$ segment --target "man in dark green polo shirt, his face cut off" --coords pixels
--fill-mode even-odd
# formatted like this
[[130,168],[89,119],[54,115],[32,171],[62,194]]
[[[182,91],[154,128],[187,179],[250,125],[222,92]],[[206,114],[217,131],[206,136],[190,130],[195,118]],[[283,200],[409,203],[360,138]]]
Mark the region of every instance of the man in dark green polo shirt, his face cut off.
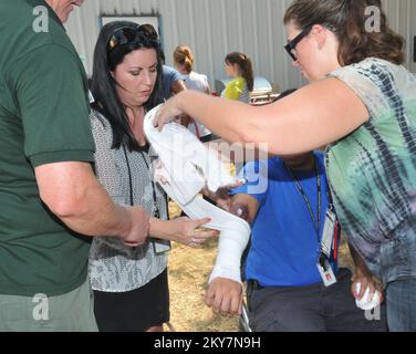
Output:
[[95,331],[86,236],[148,233],[93,174],[86,75],[62,25],[82,2],[0,1],[0,331]]

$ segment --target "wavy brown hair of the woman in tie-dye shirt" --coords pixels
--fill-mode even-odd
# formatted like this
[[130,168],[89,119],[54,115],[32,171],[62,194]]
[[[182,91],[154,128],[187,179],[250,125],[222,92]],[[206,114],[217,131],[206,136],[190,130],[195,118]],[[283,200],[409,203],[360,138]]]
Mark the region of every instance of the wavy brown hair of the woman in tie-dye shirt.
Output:
[[[379,32],[365,29],[370,18],[367,7],[381,10]],[[397,65],[405,60],[405,41],[388,27],[381,0],[294,0],[283,21],[284,24],[293,21],[299,29],[322,24],[333,31],[340,42],[339,61],[342,65],[371,56]]]

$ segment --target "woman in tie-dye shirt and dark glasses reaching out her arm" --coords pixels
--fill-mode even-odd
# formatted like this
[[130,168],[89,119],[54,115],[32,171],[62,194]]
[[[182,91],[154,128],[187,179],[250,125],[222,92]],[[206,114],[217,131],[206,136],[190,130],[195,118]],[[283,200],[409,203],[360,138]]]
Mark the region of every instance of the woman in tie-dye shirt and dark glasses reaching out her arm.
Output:
[[[368,6],[381,10],[379,31],[367,31]],[[263,107],[186,92],[156,124],[186,112],[227,140],[268,142],[280,155],[329,145],[343,231],[385,287],[391,330],[415,331],[416,81],[402,66],[404,40],[378,0],[294,0],[284,24],[310,85]]]

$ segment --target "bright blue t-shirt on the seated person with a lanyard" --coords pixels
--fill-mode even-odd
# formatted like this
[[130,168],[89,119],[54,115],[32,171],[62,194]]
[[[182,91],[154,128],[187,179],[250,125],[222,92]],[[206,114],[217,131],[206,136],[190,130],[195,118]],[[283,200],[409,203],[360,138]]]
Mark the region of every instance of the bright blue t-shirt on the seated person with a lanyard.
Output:
[[[319,237],[308,205],[281,158],[273,157],[245,166],[241,174],[248,183],[233,189],[231,195],[248,194],[260,205],[252,225],[246,279],[254,279],[263,287],[306,287],[322,283],[316,262],[319,240],[322,237],[329,207],[329,187],[323,154],[318,152],[314,154],[318,157],[322,190]],[[297,171],[295,176],[308,196],[316,220],[315,169]],[[331,263],[336,274],[336,264],[333,260]]]

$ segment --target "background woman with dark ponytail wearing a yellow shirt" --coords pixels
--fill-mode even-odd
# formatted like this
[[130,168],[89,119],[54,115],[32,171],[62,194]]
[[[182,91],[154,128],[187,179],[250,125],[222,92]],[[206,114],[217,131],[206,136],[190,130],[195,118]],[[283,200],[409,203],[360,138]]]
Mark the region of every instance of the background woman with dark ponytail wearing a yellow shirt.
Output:
[[226,56],[226,73],[231,77],[231,81],[227,84],[221,96],[250,103],[250,92],[254,87],[250,58],[242,53],[229,53]]

